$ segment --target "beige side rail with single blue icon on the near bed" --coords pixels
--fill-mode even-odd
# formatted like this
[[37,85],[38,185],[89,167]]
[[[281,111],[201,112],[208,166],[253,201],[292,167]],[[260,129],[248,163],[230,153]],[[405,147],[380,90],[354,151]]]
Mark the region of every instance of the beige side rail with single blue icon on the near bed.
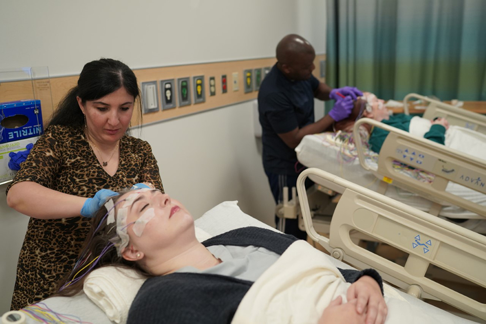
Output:
[[[324,187],[346,188],[331,222],[331,234],[319,235],[312,224],[304,181],[313,175]],[[307,234],[330,254],[359,269],[373,267],[383,278],[416,297],[435,297],[486,319],[486,304],[426,278],[430,264],[486,288],[486,237],[409,207],[328,172],[310,168],[297,180]],[[359,231],[409,254],[400,266],[355,245]]]

